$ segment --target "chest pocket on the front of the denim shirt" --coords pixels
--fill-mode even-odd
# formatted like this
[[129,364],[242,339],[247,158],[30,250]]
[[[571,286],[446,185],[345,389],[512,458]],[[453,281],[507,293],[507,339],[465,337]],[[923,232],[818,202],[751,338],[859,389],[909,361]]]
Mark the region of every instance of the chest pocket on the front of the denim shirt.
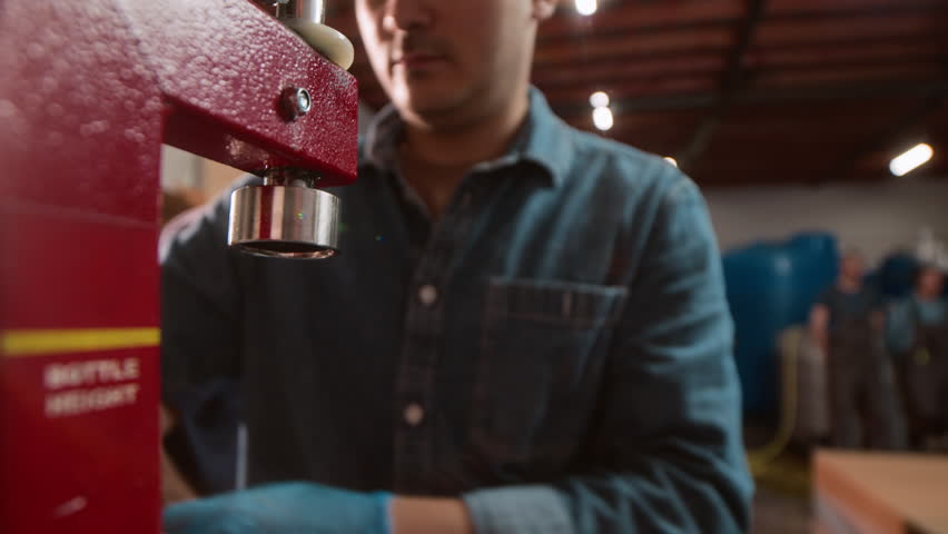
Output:
[[481,453],[555,464],[579,446],[625,297],[616,286],[488,281],[472,407]]

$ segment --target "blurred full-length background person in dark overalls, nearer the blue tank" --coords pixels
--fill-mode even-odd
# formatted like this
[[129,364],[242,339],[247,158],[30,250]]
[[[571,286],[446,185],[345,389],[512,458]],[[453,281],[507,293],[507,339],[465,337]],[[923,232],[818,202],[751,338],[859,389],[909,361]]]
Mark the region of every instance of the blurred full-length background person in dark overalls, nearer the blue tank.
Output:
[[895,380],[882,346],[881,296],[863,283],[865,261],[855,250],[810,314],[810,334],[827,355],[830,443],[835,447],[901,446]]

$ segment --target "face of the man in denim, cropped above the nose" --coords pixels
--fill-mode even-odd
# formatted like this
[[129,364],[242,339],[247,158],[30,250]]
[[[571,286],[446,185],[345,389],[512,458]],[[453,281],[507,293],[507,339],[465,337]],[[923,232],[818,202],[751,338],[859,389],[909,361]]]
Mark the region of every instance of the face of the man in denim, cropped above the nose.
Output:
[[529,69],[534,0],[356,0],[378,81],[403,116],[435,119],[496,103]]

